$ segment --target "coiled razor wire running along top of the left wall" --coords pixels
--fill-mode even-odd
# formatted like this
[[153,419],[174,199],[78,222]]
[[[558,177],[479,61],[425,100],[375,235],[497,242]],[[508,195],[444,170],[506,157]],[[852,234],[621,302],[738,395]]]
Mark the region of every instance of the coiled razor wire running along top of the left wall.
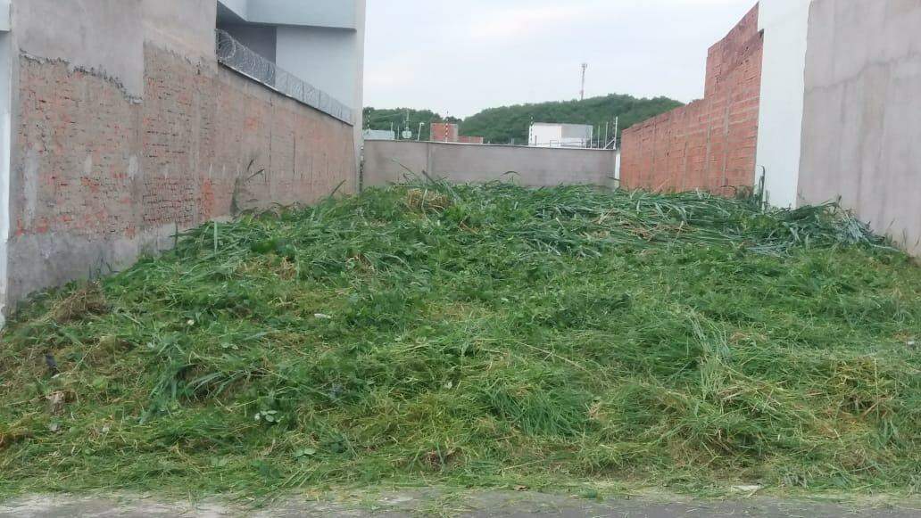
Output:
[[249,47],[230,36],[226,30],[217,29],[217,62],[242,75],[262,83],[276,92],[319,109],[340,121],[354,124],[352,109],[332,98],[320,88],[310,85],[272,61],[253,52]]

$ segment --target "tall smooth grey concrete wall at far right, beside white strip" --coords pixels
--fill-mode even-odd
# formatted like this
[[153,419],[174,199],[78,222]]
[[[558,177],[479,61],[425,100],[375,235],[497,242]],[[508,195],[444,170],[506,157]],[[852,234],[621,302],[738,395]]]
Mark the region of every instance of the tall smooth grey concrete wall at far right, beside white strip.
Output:
[[799,202],[921,254],[921,0],[815,0],[809,28]]

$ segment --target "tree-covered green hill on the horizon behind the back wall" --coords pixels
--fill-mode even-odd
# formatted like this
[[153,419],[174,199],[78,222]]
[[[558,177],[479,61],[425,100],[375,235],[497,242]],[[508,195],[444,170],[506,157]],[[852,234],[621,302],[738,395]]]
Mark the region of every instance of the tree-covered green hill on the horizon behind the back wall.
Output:
[[420,122],[426,123],[422,131],[423,140],[429,137],[428,125],[431,122],[452,121],[461,122],[462,135],[483,136],[486,142],[491,144],[511,144],[512,142],[521,144],[528,140],[528,129],[532,121],[604,126],[605,122],[613,122],[615,117],[620,117],[623,130],[636,122],[646,121],[650,117],[679,106],[682,106],[681,102],[670,98],[635,98],[612,94],[581,101],[551,101],[484,109],[463,121],[456,118],[445,118],[427,109],[366,108],[365,127],[374,130],[403,127],[408,112],[409,127],[414,132],[418,129]]

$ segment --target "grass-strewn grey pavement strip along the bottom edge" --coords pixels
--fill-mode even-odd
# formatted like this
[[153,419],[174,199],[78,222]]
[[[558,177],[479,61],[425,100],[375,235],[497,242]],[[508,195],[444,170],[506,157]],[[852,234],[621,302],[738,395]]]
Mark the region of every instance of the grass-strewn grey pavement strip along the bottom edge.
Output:
[[826,501],[789,501],[749,498],[737,501],[694,501],[673,497],[594,501],[530,492],[467,492],[437,490],[350,494],[319,500],[284,499],[261,507],[219,500],[160,501],[129,495],[108,497],[33,496],[0,502],[0,518],[103,517],[308,517],[349,516],[465,516],[563,518],[611,516],[618,518],[787,517],[838,518],[846,516],[909,518],[921,516],[921,501],[842,504]]

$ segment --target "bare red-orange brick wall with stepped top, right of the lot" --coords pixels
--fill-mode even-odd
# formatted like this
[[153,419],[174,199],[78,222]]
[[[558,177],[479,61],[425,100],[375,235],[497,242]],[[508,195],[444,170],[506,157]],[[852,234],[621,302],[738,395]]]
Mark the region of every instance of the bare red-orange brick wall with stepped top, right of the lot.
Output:
[[703,99],[624,131],[624,188],[730,195],[752,187],[763,43],[754,6],[710,48]]

